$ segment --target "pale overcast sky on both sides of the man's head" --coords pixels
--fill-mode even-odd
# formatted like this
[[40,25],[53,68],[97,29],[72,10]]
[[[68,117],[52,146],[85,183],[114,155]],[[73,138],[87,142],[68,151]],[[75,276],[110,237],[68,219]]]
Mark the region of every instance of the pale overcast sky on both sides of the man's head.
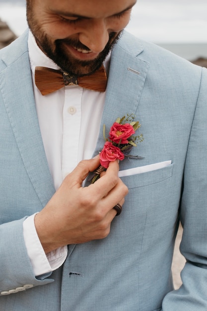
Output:
[[[0,0],[0,18],[20,35],[25,0]],[[207,0],[138,0],[128,31],[155,43],[207,43]]]

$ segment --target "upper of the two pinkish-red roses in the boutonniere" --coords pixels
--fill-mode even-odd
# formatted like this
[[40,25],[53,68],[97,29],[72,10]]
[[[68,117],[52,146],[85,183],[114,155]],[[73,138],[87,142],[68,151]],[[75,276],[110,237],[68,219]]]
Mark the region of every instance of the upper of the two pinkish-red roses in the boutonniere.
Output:
[[135,130],[129,123],[119,124],[114,122],[109,132],[109,139],[116,144],[128,144],[128,138],[135,134]]

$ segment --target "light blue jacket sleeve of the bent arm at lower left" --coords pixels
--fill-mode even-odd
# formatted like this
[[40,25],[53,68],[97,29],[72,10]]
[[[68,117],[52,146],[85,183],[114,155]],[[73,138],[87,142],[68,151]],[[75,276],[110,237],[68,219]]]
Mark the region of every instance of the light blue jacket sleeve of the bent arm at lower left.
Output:
[[37,286],[53,282],[51,273],[35,277],[23,238],[25,218],[0,225],[1,278],[0,292],[26,284]]

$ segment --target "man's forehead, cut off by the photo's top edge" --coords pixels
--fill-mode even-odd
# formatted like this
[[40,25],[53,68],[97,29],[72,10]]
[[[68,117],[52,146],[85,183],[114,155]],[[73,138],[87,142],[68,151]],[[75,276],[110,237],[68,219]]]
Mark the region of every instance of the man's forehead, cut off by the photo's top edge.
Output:
[[27,0],[48,12],[65,12],[91,18],[111,16],[131,8],[137,0]]

